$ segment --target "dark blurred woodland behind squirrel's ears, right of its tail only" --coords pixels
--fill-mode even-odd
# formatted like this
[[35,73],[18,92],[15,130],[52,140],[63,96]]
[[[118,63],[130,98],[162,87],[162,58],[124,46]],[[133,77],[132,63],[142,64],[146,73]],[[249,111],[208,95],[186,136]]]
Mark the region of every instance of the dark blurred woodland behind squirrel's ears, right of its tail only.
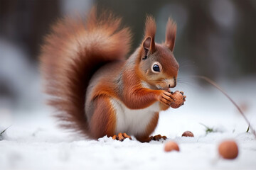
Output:
[[[156,17],[161,8],[167,4],[179,4],[186,8],[188,23],[183,34],[179,35],[176,40],[174,53],[178,60],[190,61],[191,64],[196,63],[194,67],[197,69],[197,74],[203,74],[213,79],[240,77],[241,74],[256,73],[255,50],[253,50],[256,44],[256,3],[253,0],[163,0],[157,2],[96,0],[96,2],[100,8],[110,9],[118,16],[122,16],[126,26],[132,26],[132,33],[134,33],[133,49],[142,41],[146,13]],[[218,3],[217,6],[214,3]],[[222,8],[218,9],[219,7]],[[232,12],[228,11],[230,8],[235,12],[229,13]],[[225,15],[238,17],[235,18],[235,23],[230,25],[231,27],[235,26],[235,28],[218,26],[218,23],[213,19],[215,13],[218,14],[216,16],[218,17],[217,21],[224,22],[220,24],[231,22],[223,21],[222,18],[228,18]],[[175,16],[175,13],[171,14]]]

